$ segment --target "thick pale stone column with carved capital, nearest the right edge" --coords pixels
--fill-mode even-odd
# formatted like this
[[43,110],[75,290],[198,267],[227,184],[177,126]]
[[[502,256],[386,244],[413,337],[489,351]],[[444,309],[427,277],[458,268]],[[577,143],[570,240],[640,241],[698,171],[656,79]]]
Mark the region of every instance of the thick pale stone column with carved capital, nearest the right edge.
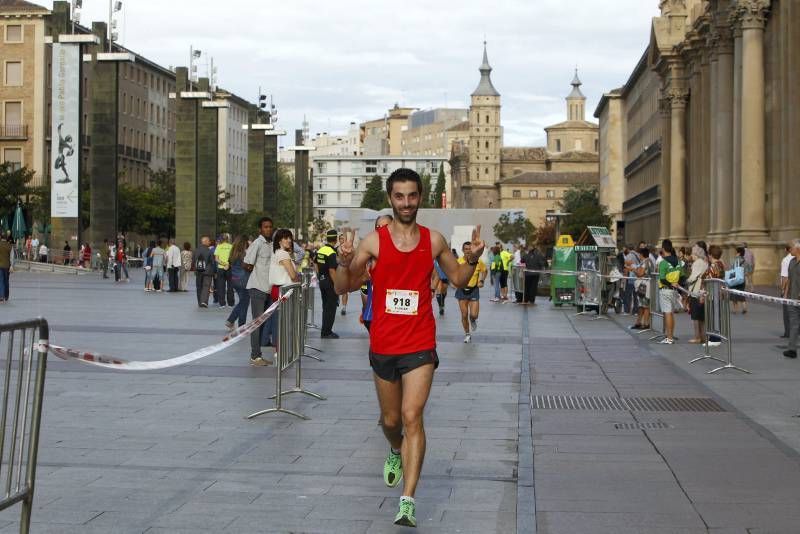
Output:
[[768,0],[740,0],[742,24],[742,181],[740,233],[766,235],[764,25]]

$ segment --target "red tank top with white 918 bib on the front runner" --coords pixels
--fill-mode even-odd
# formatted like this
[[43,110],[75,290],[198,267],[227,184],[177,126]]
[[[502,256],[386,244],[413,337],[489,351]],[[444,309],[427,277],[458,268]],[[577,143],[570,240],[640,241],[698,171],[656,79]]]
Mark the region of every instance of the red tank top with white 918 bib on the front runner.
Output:
[[[372,269],[370,350],[388,356],[436,348],[436,320],[431,306],[431,232],[419,228],[419,244],[397,250],[389,227],[378,230],[378,261]],[[416,304],[416,306],[415,306]]]

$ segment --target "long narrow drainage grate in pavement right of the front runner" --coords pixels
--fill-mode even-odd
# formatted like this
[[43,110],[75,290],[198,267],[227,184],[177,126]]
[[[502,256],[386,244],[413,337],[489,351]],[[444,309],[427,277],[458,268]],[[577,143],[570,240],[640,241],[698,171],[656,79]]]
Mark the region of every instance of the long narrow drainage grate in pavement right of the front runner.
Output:
[[714,399],[706,397],[576,397],[534,395],[534,410],[624,410],[633,412],[724,412]]

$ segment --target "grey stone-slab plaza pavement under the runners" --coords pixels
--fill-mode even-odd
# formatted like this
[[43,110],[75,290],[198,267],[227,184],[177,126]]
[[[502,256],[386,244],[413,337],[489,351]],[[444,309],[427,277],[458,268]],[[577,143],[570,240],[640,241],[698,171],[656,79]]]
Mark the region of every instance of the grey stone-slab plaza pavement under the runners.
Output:
[[[223,311],[199,310],[193,293],[145,293],[132,274],[114,284],[15,273],[0,322],[41,314],[54,343],[140,360],[224,334]],[[418,531],[800,531],[800,364],[774,347],[779,310],[734,318],[737,361],[753,375],[709,376],[706,362],[685,364],[696,347],[651,345],[622,318],[492,304],[486,293],[472,345],[452,297],[437,318]],[[391,522],[400,490],[382,482],[386,443],[354,296],[336,319],[342,339],[311,331],[326,361],[303,361],[305,386],[328,400],[284,399],[310,421],[244,419],[272,405],[275,385],[274,369],[247,365],[247,341],[148,373],[51,356],[32,532],[411,532]],[[546,395],[667,400],[666,411],[567,410],[542,406]],[[17,508],[0,513],[0,532],[16,520]]]

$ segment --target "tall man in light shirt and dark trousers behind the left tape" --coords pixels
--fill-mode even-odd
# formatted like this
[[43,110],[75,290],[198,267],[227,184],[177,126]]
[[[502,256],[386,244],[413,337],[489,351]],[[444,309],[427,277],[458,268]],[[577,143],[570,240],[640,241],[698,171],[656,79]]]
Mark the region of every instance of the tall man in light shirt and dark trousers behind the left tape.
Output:
[[[244,255],[243,266],[250,272],[247,280],[247,291],[250,294],[250,309],[253,319],[260,317],[264,310],[272,304],[270,294],[272,284],[269,281],[269,264],[272,260],[272,219],[262,217],[258,221],[259,235]],[[250,335],[250,365],[271,365],[272,361],[261,354],[262,336],[269,336],[272,323],[267,321]]]

